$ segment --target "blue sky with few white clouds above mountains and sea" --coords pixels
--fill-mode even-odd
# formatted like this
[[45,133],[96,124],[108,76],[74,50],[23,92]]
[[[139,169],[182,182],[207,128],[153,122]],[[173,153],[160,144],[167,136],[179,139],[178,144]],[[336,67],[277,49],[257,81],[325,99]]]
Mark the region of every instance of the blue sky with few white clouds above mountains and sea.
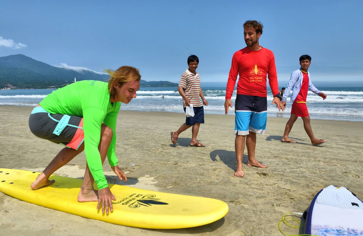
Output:
[[362,9],[362,1],[325,0],[1,1],[0,57],[98,72],[131,65],[144,80],[177,82],[196,54],[202,81],[226,82],[233,53],[246,46],[242,24],[259,20],[278,80],[309,54],[313,80],[362,81]]

